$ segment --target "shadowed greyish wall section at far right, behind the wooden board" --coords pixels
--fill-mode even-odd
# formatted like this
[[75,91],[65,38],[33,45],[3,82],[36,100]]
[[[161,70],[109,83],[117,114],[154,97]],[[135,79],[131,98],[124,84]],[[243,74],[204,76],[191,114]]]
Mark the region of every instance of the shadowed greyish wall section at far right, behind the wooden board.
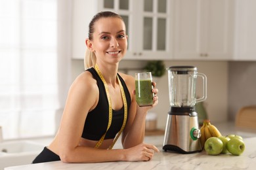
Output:
[[256,61],[228,63],[228,119],[235,120],[238,111],[256,105]]

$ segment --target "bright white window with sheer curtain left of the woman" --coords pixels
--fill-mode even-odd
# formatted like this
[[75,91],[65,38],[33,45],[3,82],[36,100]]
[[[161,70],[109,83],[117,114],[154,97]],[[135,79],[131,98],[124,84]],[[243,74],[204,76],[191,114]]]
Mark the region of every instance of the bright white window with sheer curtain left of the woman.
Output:
[[58,100],[57,0],[0,0],[4,139],[53,135]]

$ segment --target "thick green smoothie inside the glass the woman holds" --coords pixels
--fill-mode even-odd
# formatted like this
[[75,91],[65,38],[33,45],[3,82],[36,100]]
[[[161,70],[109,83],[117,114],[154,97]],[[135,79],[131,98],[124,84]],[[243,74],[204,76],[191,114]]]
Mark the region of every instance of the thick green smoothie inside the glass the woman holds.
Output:
[[135,80],[136,101],[139,106],[153,105],[152,88],[151,80]]

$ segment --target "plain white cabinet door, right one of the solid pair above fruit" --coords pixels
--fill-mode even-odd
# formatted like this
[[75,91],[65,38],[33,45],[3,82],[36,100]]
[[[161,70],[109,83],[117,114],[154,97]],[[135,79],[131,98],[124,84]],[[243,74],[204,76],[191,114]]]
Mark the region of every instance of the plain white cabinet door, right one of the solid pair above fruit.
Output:
[[231,59],[234,27],[233,0],[203,1],[203,44],[200,58]]

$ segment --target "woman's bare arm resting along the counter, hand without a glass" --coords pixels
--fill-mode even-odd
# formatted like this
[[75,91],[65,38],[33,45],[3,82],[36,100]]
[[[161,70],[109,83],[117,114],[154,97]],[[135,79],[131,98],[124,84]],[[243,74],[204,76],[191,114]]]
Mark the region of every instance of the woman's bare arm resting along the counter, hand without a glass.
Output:
[[72,84],[56,138],[60,159],[66,163],[150,160],[154,155],[153,150],[156,150],[155,146],[150,144],[114,150],[79,146],[87,113],[98,103],[97,96],[98,88],[93,78],[81,76]]

